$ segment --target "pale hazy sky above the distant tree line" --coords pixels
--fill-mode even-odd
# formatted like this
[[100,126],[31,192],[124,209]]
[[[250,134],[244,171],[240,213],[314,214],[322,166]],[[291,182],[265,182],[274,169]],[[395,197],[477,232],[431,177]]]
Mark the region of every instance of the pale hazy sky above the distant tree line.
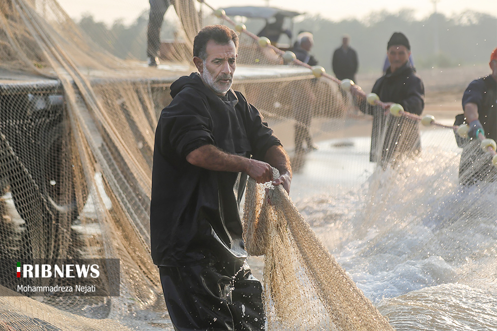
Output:
[[[497,0],[437,1],[437,10],[448,16],[468,9],[497,16]],[[205,0],[205,2],[215,8],[267,4],[266,0]],[[97,21],[108,24],[118,18],[131,23],[149,8],[148,0],[59,0],[59,3],[73,18],[79,19],[83,13],[90,13]],[[344,18],[361,19],[370,12],[379,10],[398,12],[401,8],[411,8],[415,10],[417,18],[433,12],[433,0],[269,0],[269,5],[311,14],[319,13],[334,21]]]

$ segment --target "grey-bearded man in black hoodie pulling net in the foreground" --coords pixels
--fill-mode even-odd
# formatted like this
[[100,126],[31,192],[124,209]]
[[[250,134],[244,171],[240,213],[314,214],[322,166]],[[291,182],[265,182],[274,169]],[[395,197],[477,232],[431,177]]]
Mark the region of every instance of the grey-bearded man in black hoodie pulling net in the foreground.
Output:
[[[262,287],[247,265],[239,204],[247,175],[289,192],[289,158],[257,109],[233,91],[238,36],[195,37],[198,73],[171,85],[155,136],[151,250],[176,330],[263,330]],[[271,166],[281,177],[273,180]]]

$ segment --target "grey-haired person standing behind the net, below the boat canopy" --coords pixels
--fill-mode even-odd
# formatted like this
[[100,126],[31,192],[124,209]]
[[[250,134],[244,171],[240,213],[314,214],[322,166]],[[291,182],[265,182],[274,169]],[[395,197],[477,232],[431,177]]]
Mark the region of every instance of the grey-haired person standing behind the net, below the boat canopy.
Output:
[[[293,49],[297,60],[308,64],[309,66],[316,66],[318,61],[309,52],[314,46],[314,38],[310,32],[302,32],[297,38],[298,45]],[[305,107],[297,105],[292,102],[295,115],[295,151],[297,153],[310,152],[318,149],[313,142],[311,134],[311,122],[314,111],[314,104],[316,103],[316,95],[312,89],[314,83],[309,81],[302,81],[296,85],[297,91],[294,96],[302,95],[305,98]],[[306,148],[304,148],[304,142]]]

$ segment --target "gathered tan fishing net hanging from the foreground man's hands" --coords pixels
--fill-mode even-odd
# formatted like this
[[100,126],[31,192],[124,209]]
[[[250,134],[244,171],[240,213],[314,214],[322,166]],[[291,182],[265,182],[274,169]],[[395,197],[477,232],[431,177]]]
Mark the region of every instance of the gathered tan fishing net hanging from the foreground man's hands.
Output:
[[264,255],[269,330],[394,330],[318,239],[281,185],[248,180],[244,231],[248,253]]

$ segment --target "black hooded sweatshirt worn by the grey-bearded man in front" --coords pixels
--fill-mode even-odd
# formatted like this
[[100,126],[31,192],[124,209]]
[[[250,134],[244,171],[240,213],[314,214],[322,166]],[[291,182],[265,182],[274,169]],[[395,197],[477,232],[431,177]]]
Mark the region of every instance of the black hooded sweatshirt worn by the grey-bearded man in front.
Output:
[[262,160],[269,147],[281,144],[242,93],[229,90],[223,100],[198,73],[172,83],[171,96],[155,135],[152,259],[160,266],[241,262],[247,252],[239,205],[247,175],[197,167],[186,156],[212,144]]

